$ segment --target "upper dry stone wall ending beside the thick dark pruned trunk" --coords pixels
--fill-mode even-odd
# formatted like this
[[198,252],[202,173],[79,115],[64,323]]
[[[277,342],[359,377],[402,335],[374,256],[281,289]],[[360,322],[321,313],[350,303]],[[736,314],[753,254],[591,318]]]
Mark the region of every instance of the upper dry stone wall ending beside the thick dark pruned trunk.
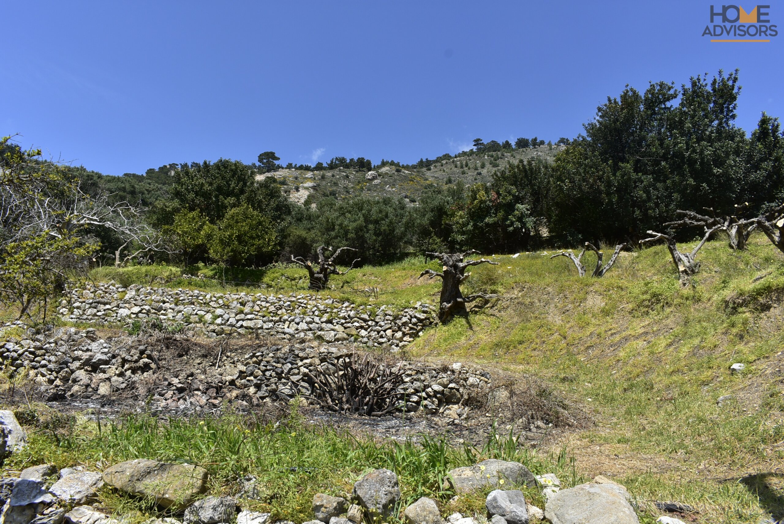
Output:
[[196,328],[210,336],[260,332],[287,340],[353,340],[393,350],[411,343],[434,322],[434,308],[418,303],[394,312],[315,294],[208,293],[100,282],[73,289],[60,302],[72,322],[128,323],[158,319]]

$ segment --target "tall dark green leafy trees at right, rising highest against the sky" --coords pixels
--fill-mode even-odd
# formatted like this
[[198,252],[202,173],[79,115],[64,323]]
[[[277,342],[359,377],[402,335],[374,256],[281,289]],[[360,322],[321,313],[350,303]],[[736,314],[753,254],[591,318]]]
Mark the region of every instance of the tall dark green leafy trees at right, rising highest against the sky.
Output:
[[[550,187],[551,230],[580,238],[636,238],[676,209],[753,211],[784,196],[779,122],[762,115],[750,138],[735,126],[737,72],[681,90],[652,83],[608,98],[586,136],[558,155]],[[536,210],[535,210],[536,212]]]

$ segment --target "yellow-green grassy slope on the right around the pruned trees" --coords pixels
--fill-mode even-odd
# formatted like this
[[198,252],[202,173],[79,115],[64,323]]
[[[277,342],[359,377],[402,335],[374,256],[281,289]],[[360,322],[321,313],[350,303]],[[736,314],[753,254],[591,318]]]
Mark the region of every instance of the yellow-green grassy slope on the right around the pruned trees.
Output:
[[[588,410],[593,428],[553,448],[568,446],[586,475],[608,474],[646,500],[691,504],[698,522],[784,515],[776,484],[784,459],[782,253],[762,235],[740,253],[708,242],[686,289],[664,246],[623,253],[601,279],[579,278],[569,260],[547,253],[473,267],[464,291],[499,300],[428,329],[408,351],[532,374]],[[363,267],[323,293],[360,304],[435,304],[437,280],[417,278],[425,267],[437,262]],[[258,282],[302,272],[274,268]],[[731,373],[735,362],[746,369]],[[723,395],[734,398],[719,407]]]

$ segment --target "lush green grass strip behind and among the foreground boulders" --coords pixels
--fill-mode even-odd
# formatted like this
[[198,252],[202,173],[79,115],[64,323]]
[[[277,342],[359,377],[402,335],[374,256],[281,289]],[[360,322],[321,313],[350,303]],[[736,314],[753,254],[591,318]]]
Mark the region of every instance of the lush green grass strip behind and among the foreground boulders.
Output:
[[[492,435],[481,449],[450,446],[442,436],[424,437],[417,443],[376,440],[307,424],[296,410],[277,421],[232,414],[192,420],[132,415],[100,425],[45,413],[34,420],[34,426],[29,448],[15,453],[6,468],[48,462],[58,468],[82,464],[101,470],[135,458],[199,464],[210,473],[207,494],[236,496],[241,479],[253,475],[261,495],[244,505],[271,511],[273,519],[295,522],[312,519],[315,493],[348,498],[353,483],[374,468],[397,473],[400,508],[419,497],[433,497],[446,515],[481,511],[489,489],[450,502],[454,493],[442,486],[450,469],[486,458],[518,460],[536,474],[557,472],[569,485],[583,481],[565,453],[537,455],[518,448],[514,435]],[[535,489],[522,489],[528,500],[543,504]],[[134,522],[164,515],[152,500],[121,497],[109,488],[101,491],[100,505]]]

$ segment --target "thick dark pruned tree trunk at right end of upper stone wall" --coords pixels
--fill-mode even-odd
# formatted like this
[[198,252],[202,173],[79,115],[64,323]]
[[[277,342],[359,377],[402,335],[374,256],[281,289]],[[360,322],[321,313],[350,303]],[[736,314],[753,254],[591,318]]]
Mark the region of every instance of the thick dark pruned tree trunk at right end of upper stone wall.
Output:
[[441,322],[448,321],[454,315],[467,315],[466,304],[477,300],[477,298],[489,299],[497,297],[497,295],[488,293],[474,293],[468,297],[463,297],[463,293],[460,292],[460,284],[466,282],[468,277],[471,276],[470,273],[466,275],[467,267],[479,264],[498,265],[498,262],[492,262],[485,258],[464,260],[474,253],[479,252],[471,249],[466,253],[425,253],[430,257],[441,260],[441,264],[443,264],[441,273],[432,269],[426,269],[419,275],[419,278],[422,278],[424,275],[428,275],[429,278],[441,277],[441,299],[439,300],[441,305],[438,307],[438,320]]

